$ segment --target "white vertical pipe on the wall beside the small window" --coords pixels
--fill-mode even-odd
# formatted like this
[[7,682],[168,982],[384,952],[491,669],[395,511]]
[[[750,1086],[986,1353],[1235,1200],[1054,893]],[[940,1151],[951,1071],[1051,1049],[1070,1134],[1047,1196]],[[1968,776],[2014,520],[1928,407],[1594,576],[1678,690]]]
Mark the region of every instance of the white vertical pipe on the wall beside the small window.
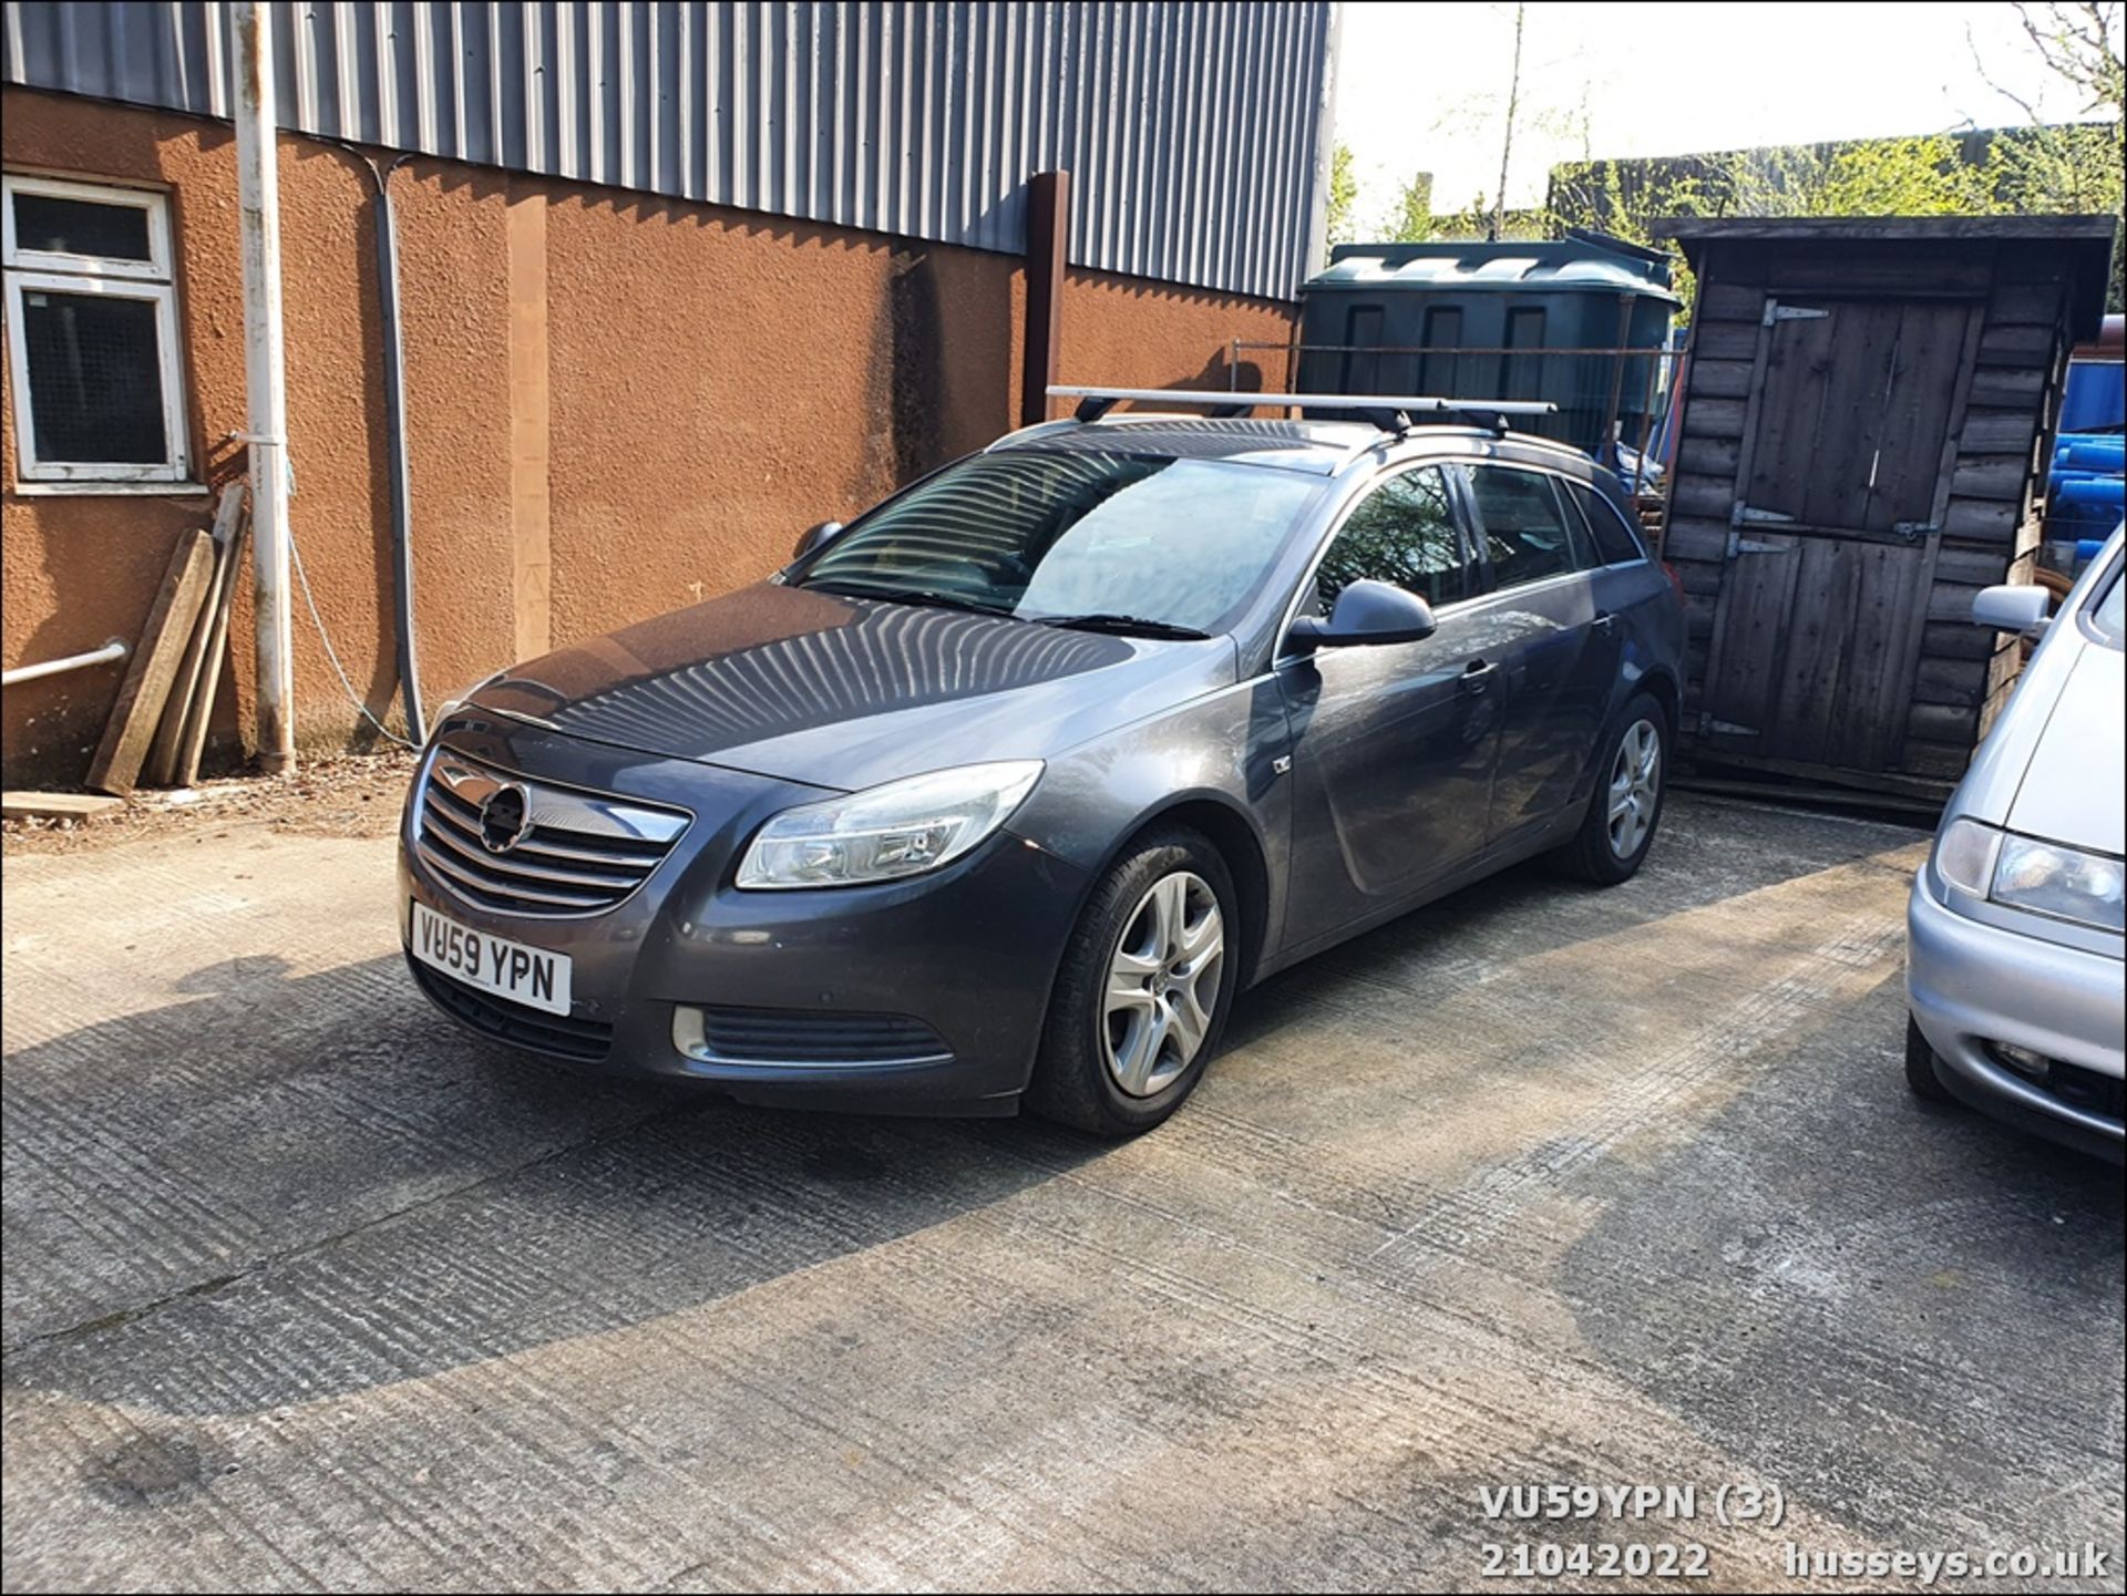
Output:
[[272,6],[230,6],[236,62],[236,225],[245,261],[245,400],[251,455],[251,565],[257,587],[259,769],[296,769],[294,610],[287,563],[287,370],[281,346],[281,185]]

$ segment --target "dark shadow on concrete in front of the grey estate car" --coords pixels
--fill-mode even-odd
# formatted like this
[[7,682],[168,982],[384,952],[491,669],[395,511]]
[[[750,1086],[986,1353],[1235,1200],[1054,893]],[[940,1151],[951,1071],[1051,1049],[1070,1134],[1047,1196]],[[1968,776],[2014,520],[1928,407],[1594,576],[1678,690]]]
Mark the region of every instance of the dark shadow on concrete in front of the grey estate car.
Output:
[[396,956],[181,990],[6,1060],[11,1388],[317,1400],[730,1298],[1106,1152],[549,1067],[434,1014]]

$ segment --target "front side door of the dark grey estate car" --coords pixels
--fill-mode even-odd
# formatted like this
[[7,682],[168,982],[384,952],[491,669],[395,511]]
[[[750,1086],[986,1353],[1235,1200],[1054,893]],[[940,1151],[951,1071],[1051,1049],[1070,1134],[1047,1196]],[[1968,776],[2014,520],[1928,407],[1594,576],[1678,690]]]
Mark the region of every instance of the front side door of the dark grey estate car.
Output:
[[1389,910],[1485,848],[1500,710],[1468,618],[1472,553],[1453,468],[1414,465],[1353,504],[1308,578],[1300,614],[1376,578],[1421,595],[1440,627],[1276,663],[1293,731],[1291,944]]

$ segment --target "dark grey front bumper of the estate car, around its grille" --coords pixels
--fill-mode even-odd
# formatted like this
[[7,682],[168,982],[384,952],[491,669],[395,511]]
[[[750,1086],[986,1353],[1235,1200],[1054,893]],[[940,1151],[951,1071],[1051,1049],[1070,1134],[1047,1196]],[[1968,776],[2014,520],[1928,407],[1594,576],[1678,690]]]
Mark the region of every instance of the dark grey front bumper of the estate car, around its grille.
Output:
[[[498,771],[693,814],[649,880],[583,916],[500,914],[417,846],[423,759],[400,831],[408,903],[572,961],[547,1016],[419,965],[438,1009],[491,1039],[632,1075],[693,1080],[789,1107],[1012,1114],[1087,878],[1000,831],[929,876],[740,893],[738,852],[776,810],[821,797],[772,778],[623,754],[476,712],[438,740]],[[706,1018],[704,1018],[706,1016]],[[849,1046],[844,1046],[844,1039]]]

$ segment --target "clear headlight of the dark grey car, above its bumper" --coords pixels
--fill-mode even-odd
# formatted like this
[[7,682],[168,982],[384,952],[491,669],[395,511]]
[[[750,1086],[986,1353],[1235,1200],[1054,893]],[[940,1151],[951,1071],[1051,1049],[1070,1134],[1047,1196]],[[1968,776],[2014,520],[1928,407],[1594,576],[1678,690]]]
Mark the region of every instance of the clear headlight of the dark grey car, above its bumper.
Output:
[[738,884],[768,890],[921,876],[1002,827],[1040,774],[1038,759],[1002,759],[802,803],[753,835]]

